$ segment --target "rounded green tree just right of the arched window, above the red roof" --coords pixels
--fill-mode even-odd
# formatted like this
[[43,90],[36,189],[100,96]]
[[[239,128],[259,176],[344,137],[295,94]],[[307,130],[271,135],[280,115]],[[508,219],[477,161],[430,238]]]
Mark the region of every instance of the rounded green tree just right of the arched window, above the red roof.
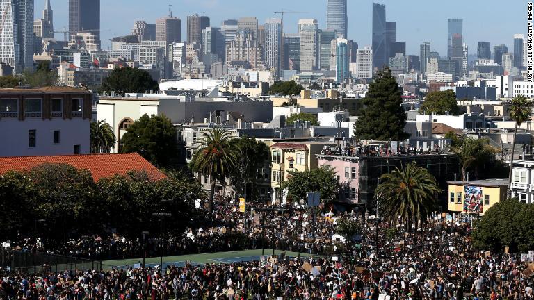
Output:
[[120,152],[137,152],[157,167],[166,167],[176,158],[177,131],[165,116],[143,115],[133,122],[119,144]]

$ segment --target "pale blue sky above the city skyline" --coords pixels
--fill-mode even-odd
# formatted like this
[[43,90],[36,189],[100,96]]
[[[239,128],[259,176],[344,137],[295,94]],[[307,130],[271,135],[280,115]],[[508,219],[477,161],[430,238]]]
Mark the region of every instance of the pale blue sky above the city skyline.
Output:
[[[212,26],[223,19],[255,16],[260,24],[277,17],[273,12],[285,10],[306,13],[286,15],[284,32],[296,33],[300,18],[318,19],[320,28],[326,26],[327,0],[101,0],[101,28],[103,47],[109,38],[127,35],[133,22],[168,15],[182,19],[182,38],[186,38],[186,16],[193,13],[211,17]],[[476,53],[476,42],[489,41],[506,44],[512,51],[513,35],[526,34],[526,3],[524,0],[376,0],[386,5],[388,21],[397,22],[397,40],[406,42],[407,53],[419,53],[421,42],[431,42],[432,50],[446,55],[447,19],[464,19],[464,41],[469,54]],[[68,0],[51,0],[54,27],[68,26]],[[35,0],[35,17],[41,16],[44,0]],[[348,35],[360,47],[371,44],[372,0],[348,0]],[[61,39],[62,35],[56,37]]]

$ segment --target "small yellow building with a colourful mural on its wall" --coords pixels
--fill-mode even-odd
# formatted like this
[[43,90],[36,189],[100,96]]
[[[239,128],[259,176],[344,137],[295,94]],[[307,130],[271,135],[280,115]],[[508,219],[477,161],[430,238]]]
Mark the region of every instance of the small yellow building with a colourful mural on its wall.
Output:
[[448,182],[448,211],[484,215],[495,203],[506,199],[508,179]]

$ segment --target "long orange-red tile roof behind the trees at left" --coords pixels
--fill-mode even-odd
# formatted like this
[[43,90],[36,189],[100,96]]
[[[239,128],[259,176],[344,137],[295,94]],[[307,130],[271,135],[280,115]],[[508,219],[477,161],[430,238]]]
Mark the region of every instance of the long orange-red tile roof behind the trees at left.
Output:
[[145,171],[149,178],[156,181],[166,177],[138,153],[0,157],[0,174],[12,170],[29,171],[44,163],[65,163],[78,169],[88,169],[95,182],[101,178],[125,175],[129,171]]

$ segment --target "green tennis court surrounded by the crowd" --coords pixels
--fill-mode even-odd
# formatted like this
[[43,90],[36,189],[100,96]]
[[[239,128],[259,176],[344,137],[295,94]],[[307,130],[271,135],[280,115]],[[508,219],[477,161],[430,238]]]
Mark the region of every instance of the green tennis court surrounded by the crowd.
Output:
[[[309,256],[306,253],[296,253],[290,251],[275,251],[275,255],[285,252],[286,256],[298,257]],[[270,256],[273,254],[273,250],[265,249],[264,255]],[[259,260],[261,257],[261,249],[256,250],[243,250],[243,251],[230,251],[230,252],[218,252],[218,253],[203,253],[203,254],[190,254],[184,256],[164,256],[163,268],[168,265],[176,267],[184,267],[186,263],[191,265],[204,265],[206,263],[239,263],[244,261]],[[134,265],[143,263],[143,258],[133,258],[127,260],[106,260],[102,262],[104,269],[127,269]],[[156,267],[159,265],[159,257],[145,258],[145,265],[147,267]]]

